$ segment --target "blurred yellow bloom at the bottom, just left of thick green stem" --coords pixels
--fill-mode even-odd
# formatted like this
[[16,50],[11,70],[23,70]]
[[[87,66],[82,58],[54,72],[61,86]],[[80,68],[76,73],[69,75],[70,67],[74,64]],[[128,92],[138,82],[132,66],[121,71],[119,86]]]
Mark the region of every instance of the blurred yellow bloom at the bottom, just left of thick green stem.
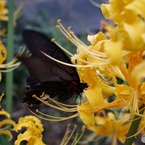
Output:
[[[126,118],[127,114],[121,116],[121,119]],[[125,120],[125,119],[124,119]],[[125,123],[122,121],[118,121],[115,115],[112,112],[103,113],[102,116],[95,117],[95,125],[88,127],[88,129],[96,132],[96,135],[101,136],[111,136],[113,135],[115,138],[119,139],[121,142],[124,142],[125,135],[128,132],[130,123]]]

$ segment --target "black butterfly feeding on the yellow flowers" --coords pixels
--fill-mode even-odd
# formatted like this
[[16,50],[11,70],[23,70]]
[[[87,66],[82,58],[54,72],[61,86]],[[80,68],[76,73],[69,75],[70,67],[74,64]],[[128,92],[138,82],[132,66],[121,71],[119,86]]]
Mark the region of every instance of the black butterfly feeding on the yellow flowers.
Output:
[[71,64],[66,54],[47,36],[33,30],[24,30],[23,39],[31,52],[29,57],[23,55],[18,57],[30,74],[24,102],[37,104],[38,100],[32,95],[41,96],[42,92],[51,98],[58,97],[58,101],[64,102],[75,94],[80,95],[87,87],[86,83],[80,82],[74,67],[53,61],[42,53],[43,51],[57,60]]

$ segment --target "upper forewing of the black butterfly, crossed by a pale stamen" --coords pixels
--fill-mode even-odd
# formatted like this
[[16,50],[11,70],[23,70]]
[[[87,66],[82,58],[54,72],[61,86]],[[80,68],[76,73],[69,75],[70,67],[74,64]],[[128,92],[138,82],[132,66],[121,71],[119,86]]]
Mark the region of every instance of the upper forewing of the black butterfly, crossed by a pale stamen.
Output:
[[45,63],[48,66],[47,70],[49,71],[45,76],[48,76],[48,74],[50,73],[55,74],[55,76],[58,76],[61,79],[64,79],[65,81],[73,81],[74,79],[75,81],[80,81],[79,76],[74,67],[57,63],[49,59],[39,51],[41,50],[47,55],[58,59],[62,62],[71,63],[70,59],[66,56],[66,54],[55,43],[51,42],[51,40],[48,37],[46,37],[42,33],[33,30],[24,30],[23,38],[32,55],[46,61]]

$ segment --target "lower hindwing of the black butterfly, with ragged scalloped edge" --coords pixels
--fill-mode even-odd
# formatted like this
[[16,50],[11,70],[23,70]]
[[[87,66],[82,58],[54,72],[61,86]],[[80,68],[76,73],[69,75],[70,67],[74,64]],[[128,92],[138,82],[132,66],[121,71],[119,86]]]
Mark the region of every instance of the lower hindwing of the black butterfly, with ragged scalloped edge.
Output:
[[[30,74],[30,77],[27,79],[28,87],[24,102],[29,102],[30,104],[37,103],[37,101],[32,98],[32,95],[36,94],[37,96],[41,96],[42,92],[45,92],[50,97],[57,96],[58,100],[61,102],[71,97],[70,93],[68,95],[66,94],[67,91],[73,94],[76,93],[75,90],[69,89],[72,81],[65,81],[66,76],[65,79],[64,77],[62,79],[57,76],[55,69],[60,68],[54,61],[49,59],[49,61],[45,61],[33,55],[27,58],[20,57],[19,59],[26,65]],[[55,69],[53,67],[55,67]]]

